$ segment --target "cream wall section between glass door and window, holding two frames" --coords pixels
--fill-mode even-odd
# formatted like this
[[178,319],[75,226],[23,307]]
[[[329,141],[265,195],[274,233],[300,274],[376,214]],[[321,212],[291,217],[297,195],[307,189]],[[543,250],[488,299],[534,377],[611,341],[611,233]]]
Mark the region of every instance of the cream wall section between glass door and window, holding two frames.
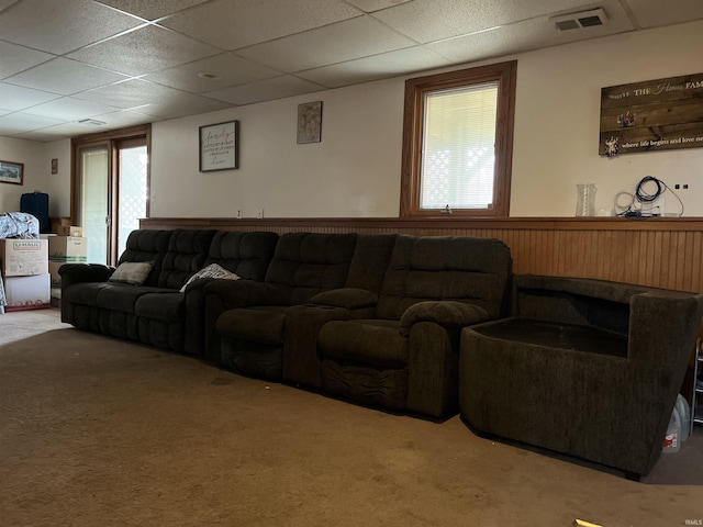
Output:
[[[155,123],[150,215],[397,216],[402,93],[394,79]],[[298,145],[298,104],[319,100],[322,142]],[[228,120],[239,168],[199,172],[198,127]]]

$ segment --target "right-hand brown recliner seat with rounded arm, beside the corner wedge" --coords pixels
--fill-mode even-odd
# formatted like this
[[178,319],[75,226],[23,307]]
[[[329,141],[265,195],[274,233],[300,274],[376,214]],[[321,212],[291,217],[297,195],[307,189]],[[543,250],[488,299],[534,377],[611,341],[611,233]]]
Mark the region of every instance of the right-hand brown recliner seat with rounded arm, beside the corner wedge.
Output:
[[505,315],[510,276],[510,249],[496,239],[399,235],[373,315],[320,332],[323,391],[435,418],[456,413],[460,330]]

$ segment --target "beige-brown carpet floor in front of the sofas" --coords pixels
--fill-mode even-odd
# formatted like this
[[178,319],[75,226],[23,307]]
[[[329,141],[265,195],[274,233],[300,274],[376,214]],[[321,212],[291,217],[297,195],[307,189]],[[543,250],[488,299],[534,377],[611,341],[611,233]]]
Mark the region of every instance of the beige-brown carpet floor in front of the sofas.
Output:
[[[62,325],[0,315],[0,525],[680,526],[702,431],[643,482]],[[627,441],[628,438],[622,438]]]

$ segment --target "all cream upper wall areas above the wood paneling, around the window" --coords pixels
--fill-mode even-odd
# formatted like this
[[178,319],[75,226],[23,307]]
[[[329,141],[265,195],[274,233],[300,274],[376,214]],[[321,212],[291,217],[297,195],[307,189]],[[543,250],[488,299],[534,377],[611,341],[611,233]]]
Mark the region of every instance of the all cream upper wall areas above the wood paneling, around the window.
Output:
[[[703,21],[539,49],[517,59],[511,216],[573,216],[577,183],[595,183],[596,210],[645,176],[679,191],[703,216],[703,148],[598,155],[601,88],[703,72]],[[479,66],[469,64],[451,69]],[[434,71],[432,71],[434,72]],[[428,72],[429,74],[429,72]],[[404,78],[155,123],[150,215],[394,217],[399,213]],[[323,101],[322,142],[298,145],[298,104]],[[239,169],[198,170],[198,127],[238,120]],[[58,158],[59,173],[51,173]],[[52,215],[70,210],[70,142],[0,137],[0,159],[25,164],[22,187],[0,183],[0,212],[22,192],[49,192]],[[680,206],[669,192],[667,212]]]

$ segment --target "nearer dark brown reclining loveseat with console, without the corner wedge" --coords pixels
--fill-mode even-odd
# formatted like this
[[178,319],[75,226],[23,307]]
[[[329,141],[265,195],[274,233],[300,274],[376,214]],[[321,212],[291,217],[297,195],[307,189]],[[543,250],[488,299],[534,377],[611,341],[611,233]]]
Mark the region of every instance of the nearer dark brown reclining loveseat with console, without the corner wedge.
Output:
[[205,288],[207,316],[224,367],[442,417],[457,408],[459,332],[504,315],[510,273],[495,239],[283,235],[264,283]]

